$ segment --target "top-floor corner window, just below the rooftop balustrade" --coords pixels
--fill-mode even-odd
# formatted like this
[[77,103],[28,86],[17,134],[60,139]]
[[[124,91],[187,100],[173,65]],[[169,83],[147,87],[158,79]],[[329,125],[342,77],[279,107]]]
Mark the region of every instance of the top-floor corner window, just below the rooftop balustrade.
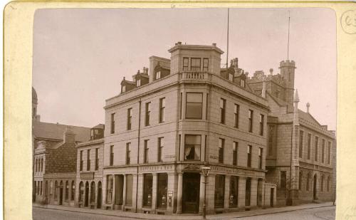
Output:
[[202,119],[203,93],[187,93],[185,117]]

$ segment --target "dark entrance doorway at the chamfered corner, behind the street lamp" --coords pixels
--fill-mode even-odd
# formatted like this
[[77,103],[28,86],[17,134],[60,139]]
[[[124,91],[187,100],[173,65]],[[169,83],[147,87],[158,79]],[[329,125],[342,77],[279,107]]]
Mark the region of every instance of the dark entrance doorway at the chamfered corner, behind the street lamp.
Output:
[[184,173],[183,195],[182,195],[183,213],[199,212],[199,190],[200,190],[200,174]]

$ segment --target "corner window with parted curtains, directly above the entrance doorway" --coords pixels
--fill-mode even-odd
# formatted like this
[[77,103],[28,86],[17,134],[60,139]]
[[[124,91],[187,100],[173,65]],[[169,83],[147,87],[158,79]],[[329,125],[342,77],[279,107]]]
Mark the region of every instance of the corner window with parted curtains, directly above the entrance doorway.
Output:
[[185,135],[184,159],[199,160],[201,149],[201,135]]

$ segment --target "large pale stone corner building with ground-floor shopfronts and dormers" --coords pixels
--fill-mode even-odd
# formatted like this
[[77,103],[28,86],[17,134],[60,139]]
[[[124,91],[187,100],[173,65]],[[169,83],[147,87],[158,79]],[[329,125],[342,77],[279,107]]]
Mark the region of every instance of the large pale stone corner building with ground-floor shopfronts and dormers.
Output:
[[[221,69],[212,46],[150,57],[106,100],[103,207],[151,214],[207,213],[273,206],[265,183],[268,101],[236,66]],[[235,67],[235,68],[234,68]],[[236,69],[236,70],[235,70]],[[266,193],[265,193],[266,192]]]

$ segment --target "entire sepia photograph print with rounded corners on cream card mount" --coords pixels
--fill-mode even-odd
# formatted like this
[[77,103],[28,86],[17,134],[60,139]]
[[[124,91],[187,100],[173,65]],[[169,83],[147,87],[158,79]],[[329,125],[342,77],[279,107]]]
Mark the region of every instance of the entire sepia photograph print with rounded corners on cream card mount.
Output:
[[338,22],[37,9],[33,219],[335,219]]

